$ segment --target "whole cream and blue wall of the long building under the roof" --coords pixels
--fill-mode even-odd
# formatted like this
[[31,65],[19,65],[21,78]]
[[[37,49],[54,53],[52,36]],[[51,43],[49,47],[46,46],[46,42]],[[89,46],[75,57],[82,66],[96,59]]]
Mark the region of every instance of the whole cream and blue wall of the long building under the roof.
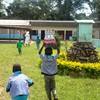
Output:
[[[28,27],[29,28],[29,27]],[[63,32],[63,39],[66,40],[66,36],[69,32],[72,32],[72,36],[69,35],[68,39],[72,40],[72,37],[77,34],[77,27],[48,27],[48,26],[30,26],[30,29],[36,31],[36,34],[32,34],[31,38],[36,40],[37,35],[42,38],[42,32],[45,32],[45,35],[50,35],[56,31]],[[18,28],[0,28],[0,38],[9,38],[9,39],[19,39],[23,38],[23,33],[25,29]],[[31,32],[30,32],[31,33]],[[92,38],[100,39],[100,28],[93,27]]]

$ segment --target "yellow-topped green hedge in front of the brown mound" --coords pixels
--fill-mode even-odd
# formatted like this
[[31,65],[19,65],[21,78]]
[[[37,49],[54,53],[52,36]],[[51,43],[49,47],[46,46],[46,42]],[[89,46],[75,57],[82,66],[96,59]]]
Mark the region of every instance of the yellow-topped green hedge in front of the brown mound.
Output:
[[[60,53],[60,58],[57,60],[59,74],[70,75],[75,73],[77,76],[97,78],[100,76],[100,63],[80,63],[72,62],[64,59],[64,53]],[[75,75],[76,77],[76,75]]]

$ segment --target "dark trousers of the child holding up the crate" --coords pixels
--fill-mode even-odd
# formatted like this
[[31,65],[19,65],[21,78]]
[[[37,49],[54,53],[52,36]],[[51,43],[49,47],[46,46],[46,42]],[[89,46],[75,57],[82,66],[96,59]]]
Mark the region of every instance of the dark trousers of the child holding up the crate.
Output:
[[53,94],[54,99],[56,98],[56,85],[55,85],[55,76],[44,76],[45,89],[47,97],[51,100],[51,93]]

